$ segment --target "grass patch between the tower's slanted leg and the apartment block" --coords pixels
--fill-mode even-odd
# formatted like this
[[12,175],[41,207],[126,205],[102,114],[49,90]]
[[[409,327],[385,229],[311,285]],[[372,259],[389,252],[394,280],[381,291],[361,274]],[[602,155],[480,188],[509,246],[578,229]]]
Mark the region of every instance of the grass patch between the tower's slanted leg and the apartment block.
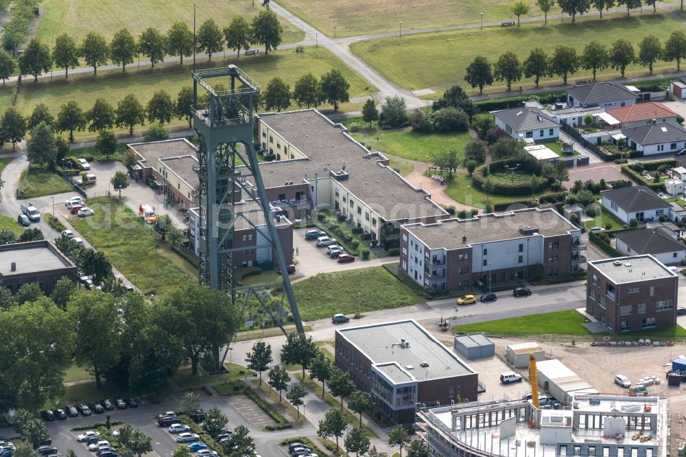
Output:
[[353,315],[425,301],[380,266],[320,273],[295,283],[293,289],[303,320],[336,313]]

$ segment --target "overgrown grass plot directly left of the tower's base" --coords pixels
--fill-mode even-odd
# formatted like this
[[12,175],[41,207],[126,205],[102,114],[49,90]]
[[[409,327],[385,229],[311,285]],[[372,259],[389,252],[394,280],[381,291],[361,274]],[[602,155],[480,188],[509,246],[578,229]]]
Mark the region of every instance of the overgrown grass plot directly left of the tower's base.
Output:
[[[102,251],[122,274],[144,294],[163,294],[178,285],[196,281],[198,271],[171,251],[167,244],[155,247],[154,231],[118,198],[89,198],[91,218],[72,216],[69,222]],[[136,274],[136,277],[134,277]]]

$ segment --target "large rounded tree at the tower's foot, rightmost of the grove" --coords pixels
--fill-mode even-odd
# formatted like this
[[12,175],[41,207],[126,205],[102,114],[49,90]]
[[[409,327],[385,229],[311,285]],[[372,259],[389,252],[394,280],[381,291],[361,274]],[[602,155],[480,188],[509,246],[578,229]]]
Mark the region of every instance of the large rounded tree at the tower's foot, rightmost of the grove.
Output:
[[211,371],[219,369],[220,348],[239,327],[239,309],[230,296],[206,285],[189,284],[155,304],[158,314],[166,318],[161,325],[178,338],[182,355],[191,360],[191,373],[198,373],[200,360]]

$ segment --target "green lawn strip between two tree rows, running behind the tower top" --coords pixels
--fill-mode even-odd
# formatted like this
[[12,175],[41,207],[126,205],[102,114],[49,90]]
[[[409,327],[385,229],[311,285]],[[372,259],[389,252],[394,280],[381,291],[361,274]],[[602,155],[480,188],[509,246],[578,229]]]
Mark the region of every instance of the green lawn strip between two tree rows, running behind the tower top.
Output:
[[[218,60],[218,59],[217,59]],[[221,62],[211,62],[210,64],[198,65],[198,67],[216,67],[220,65],[237,64],[242,70],[246,71],[251,78],[256,80],[262,88],[275,76],[283,79],[286,84],[294,86],[305,73],[311,72],[316,76],[327,73],[331,69],[339,69],[346,80],[350,83],[350,96],[358,97],[368,95],[376,91],[362,77],[353,73],[340,59],[336,58],[323,47],[305,48],[304,52],[296,53],[294,49],[276,51],[269,56],[260,54],[259,56],[248,56],[235,60],[235,58],[222,60]],[[56,78],[55,80],[39,80],[38,82],[28,82],[23,84],[19,97],[16,100],[16,108],[24,115],[30,115],[34,106],[38,103],[45,103],[53,115],[57,115],[60,106],[76,100],[84,110],[89,110],[93,106],[95,99],[105,97],[114,106],[120,99],[129,93],[137,95],[143,106],[147,104],[154,91],[165,90],[176,99],[176,95],[183,86],[192,86],[190,65],[173,65],[165,68],[145,69],[141,71],[111,71],[109,73],[98,73],[93,75],[71,75],[68,80]],[[219,81],[217,81],[219,82]],[[342,104],[341,110],[359,110],[362,104]],[[293,105],[290,109],[298,109]],[[332,109],[329,105],[320,106],[322,110]],[[189,128],[186,121],[178,119],[172,120],[169,128]],[[135,130],[141,134],[145,127]],[[128,133],[126,130],[119,130],[119,133]],[[93,132],[77,132],[76,137],[80,141],[94,139]]]

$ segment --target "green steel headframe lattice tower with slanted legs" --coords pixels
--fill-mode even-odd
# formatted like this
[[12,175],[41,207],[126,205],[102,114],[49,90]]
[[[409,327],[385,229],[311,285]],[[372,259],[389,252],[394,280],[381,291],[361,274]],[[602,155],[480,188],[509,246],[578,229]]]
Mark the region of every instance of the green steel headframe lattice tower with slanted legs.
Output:
[[[283,291],[296,330],[303,333],[303,323],[300,321],[300,313],[288,277],[283,248],[276,233],[257,153],[252,142],[255,131],[252,108],[254,97],[259,93],[259,86],[235,65],[193,71],[192,74],[191,113],[200,142],[197,167],[200,202],[200,283],[227,292],[234,301],[236,300],[239,287],[233,253],[244,250],[245,247],[233,247],[233,234],[237,218],[244,218],[274,249],[274,261],[281,269]],[[228,83],[228,89],[215,91],[206,82],[210,78],[222,78],[222,84]],[[206,101],[200,94],[207,97]],[[245,166],[237,167],[237,159]],[[249,176],[252,176],[256,187],[255,201],[258,209],[237,211],[235,203],[241,200],[241,194],[252,194],[252,189],[248,189],[246,185],[246,178]],[[266,231],[264,226],[256,226],[251,218],[246,217],[247,213],[262,213]],[[246,300],[250,291],[246,291]],[[255,296],[258,296],[257,292]],[[264,307],[264,303],[260,301]]]

